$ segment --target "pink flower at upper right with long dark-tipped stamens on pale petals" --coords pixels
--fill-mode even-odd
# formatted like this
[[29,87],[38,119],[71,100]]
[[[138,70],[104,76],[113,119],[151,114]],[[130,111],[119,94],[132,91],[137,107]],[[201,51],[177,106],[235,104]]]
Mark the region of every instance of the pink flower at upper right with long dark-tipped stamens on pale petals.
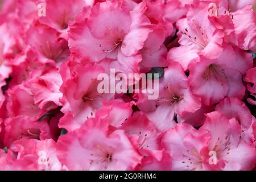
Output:
[[221,55],[224,32],[210,23],[208,6],[207,1],[196,1],[189,9],[187,18],[176,23],[181,46],[170,50],[168,60],[179,62],[184,70],[200,55],[208,59],[217,59]]

